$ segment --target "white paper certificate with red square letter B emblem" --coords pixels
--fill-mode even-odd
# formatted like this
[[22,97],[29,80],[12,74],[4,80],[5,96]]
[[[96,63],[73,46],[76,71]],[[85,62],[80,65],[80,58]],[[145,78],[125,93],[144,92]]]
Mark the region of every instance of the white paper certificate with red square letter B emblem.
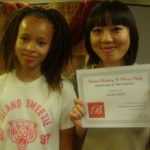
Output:
[[150,64],[76,73],[83,127],[150,127]]

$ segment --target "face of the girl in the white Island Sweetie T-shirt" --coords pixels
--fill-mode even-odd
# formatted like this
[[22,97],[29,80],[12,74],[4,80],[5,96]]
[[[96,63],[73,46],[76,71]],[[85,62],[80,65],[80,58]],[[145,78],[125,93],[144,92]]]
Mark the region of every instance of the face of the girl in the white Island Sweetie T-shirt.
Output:
[[46,19],[26,16],[20,23],[15,53],[21,69],[40,71],[53,37],[53,25]]

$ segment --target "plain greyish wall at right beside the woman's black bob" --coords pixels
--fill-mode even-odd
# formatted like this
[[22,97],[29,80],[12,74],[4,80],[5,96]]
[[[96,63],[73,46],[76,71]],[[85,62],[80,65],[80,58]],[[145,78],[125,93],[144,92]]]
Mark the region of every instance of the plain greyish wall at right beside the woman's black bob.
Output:
[[139,52],[137,63],[150,63],[150,6],[129,6],[139,31]]

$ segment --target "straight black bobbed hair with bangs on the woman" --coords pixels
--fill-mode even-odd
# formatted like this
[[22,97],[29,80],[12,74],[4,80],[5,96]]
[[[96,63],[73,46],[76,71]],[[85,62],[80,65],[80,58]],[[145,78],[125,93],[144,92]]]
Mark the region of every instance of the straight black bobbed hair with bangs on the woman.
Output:
[[124,25],[129,29],[130,34],[130,47],[125,55],[126,65],[135,63],[139,34],[137,31],[136,21],[130,9],[126,4],[120,1],[104,1],[95,5],[87,19],[85,31],[85,47],[89,54],[87,65],[99,63],[100,58],[92,50],[90,42],[90,32],[95,26]]

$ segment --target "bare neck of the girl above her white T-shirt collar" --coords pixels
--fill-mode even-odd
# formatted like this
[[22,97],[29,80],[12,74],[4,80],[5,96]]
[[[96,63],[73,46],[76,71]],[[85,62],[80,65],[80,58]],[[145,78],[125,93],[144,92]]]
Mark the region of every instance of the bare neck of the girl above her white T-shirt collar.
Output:
[[41,72],[27,69],[16,69],[16,75],[23,82],[31,82],[40,77]]

